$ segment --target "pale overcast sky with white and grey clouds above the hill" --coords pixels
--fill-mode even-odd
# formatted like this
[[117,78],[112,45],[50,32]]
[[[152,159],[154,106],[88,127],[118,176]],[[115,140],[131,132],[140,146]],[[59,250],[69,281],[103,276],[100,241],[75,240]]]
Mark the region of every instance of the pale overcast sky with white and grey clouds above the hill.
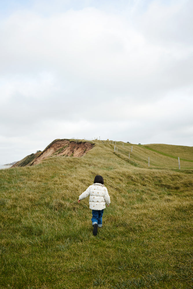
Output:
[[56,138],[193,146],[192,0],[0,1],[0,164]]

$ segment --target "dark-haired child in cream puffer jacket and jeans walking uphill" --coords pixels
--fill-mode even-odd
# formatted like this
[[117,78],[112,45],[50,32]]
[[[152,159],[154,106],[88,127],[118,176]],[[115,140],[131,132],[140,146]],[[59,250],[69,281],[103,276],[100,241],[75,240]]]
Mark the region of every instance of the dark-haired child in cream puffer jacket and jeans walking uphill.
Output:
[[111,203],[107,188],[104,186],[103,177],[99,175],[95,177],[94,184],[89,186],[86,191],[80,195],[78,203],[88,196],[90,196],[89,208],[92,210],[93,214],[91,219],[93,224],[93,235],[96,236],[98,227],[102,227],[102,215],[106,208],[105,204],[109,207],[109,204]]

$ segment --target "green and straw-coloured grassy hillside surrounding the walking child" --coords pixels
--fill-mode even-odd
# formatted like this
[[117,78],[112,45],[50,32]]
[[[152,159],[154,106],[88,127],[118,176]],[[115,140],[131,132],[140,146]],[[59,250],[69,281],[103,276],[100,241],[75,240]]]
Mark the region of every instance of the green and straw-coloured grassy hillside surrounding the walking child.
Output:
[[[192,288],[192,147],[94,143],[0,171],[0,288]],[[97,174],[111,204],[94,237],[78,197]]]

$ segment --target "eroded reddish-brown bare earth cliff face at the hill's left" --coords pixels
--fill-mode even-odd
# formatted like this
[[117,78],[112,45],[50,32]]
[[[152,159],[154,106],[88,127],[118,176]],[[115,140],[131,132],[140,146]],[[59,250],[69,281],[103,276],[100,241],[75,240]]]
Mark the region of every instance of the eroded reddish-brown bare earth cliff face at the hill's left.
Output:
[[69,156],[82,157],[94,144],[91,142],[55,140],[50,144],[37,158],[34,159],[31,165],[38,164],[49,156]]

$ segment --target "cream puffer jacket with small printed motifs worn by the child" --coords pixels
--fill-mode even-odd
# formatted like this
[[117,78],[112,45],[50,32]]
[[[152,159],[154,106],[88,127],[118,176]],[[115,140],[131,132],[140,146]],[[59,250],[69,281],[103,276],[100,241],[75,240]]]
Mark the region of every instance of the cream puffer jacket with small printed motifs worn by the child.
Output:
[[91,210],[100,211],[106,208],[106,204],[111,203],[107,188],[99,183],[95,183],[89,186],[85,192],[83,192],[79,200],[83,200],[89,197],[89,208]]

